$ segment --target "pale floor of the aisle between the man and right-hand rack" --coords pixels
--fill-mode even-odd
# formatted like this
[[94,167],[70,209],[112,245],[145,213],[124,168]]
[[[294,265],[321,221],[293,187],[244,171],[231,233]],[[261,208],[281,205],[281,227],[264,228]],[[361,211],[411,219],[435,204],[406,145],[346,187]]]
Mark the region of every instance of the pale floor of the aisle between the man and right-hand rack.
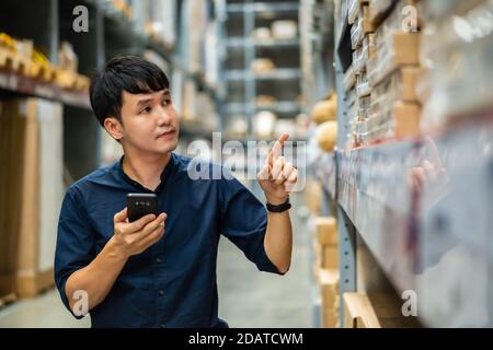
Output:
[[260,272],[231,242],[218,257],[219,315],[230,327],[312,327],[309,258],[303,220],[291,210],[294,252],[285,276]]

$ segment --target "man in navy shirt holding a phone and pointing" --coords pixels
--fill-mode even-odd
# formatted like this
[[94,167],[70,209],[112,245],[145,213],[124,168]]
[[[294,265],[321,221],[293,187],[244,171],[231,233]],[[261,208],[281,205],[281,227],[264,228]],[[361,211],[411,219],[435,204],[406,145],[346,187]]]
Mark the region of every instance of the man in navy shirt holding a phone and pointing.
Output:
[[[288,189],[297,170],[279,156],[288,136],[257,175],[267,213],[234,178],[191,179],[191,160],[172,152],[180,124],[169,88],[165,74],[138,57],[112,59],[91,82],[92,109],[124,156],[67,190],[55,278],[76,317],[87,302],[93,327],[227,327],[218,317],[220,234],[260,270],[289,269]],[[159,215],[129,222],[128,192],[154,192]]]

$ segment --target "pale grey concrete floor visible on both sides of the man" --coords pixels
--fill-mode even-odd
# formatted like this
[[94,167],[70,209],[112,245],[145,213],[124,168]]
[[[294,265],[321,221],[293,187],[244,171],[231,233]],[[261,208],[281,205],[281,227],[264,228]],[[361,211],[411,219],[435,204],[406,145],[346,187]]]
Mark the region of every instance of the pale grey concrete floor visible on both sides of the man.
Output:
[[[295,207],[296,208],[296,207]],[[311,327],[312,308],[305,222],[291,210],[295,247],[286,276],[260,272],[231,242],[221,238],[218,257],[219,315],[230,327]],[[74,319],[55,290],[0,311],[0,328],[90,327]]]

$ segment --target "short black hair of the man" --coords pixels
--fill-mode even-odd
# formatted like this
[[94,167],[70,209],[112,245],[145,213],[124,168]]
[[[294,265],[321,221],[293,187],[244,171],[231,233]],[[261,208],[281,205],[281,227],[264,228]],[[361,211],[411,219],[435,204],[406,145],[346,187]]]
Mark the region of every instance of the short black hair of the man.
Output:
[[170,88],[164,72],[152,62],[137,56],[118,56],[106,62],[91,80],[89,95],[98,120],[115,117],[122,121],[123,92],[141,94]]

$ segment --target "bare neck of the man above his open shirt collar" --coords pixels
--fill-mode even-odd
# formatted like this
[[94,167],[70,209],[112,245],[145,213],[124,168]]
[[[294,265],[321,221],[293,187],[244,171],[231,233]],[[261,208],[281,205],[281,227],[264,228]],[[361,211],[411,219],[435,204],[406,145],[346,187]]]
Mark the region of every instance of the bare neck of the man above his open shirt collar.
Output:
[[125,152],[123,170],[144,187],[154,190],[161,183],[161,173],[170,162],[171,152],[158,155],[134,155]]

